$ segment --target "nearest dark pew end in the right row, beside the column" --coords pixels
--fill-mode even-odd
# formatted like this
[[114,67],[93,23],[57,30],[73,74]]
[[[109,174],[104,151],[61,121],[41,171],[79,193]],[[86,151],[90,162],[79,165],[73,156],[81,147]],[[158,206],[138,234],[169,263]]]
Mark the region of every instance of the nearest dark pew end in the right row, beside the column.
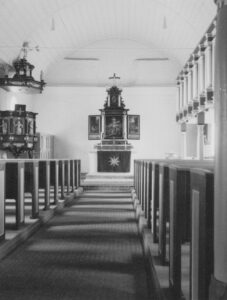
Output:
[[214,271],[214,175],[210,170],[191,171],[192,240],[190,299],[208,299]]

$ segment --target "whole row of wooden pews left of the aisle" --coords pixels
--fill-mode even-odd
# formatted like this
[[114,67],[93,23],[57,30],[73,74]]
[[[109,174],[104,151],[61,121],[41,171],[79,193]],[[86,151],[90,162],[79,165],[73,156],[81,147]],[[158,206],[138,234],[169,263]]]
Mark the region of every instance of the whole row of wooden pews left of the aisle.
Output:
[[[79,160],[0,160],[0,239],[4,239],[8,226],[8,206],[13,220],[11,226],[19,229],[25,222],[25,214],[32,219],[39,218],[40,207],[49,210],[52,205],[58,204],[59,199],[74,193],[78,187]],[[26,201],[29,197],[28,210]]]

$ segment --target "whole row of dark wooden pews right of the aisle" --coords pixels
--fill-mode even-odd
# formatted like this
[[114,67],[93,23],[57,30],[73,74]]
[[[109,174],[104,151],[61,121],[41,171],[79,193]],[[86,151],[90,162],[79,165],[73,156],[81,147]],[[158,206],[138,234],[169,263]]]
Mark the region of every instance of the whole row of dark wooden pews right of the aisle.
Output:
[[208,299],[213,273],[212,161],[135,160],[134,187],[174,299]]

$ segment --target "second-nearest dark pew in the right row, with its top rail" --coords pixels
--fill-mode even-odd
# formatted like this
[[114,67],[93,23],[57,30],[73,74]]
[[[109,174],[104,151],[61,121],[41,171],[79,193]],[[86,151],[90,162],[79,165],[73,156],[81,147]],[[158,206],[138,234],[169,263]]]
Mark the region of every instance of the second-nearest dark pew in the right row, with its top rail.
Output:
[[[170,230],[169,230],[169,282],[176,299],[182,296],[182,276],[184,275],[185,297],[190,295],[190,267],[186,258],[190,257],[191,242],[191,190],[190,172],[194,168],[212,168],[210,162],[181,162],[169,166],[170,190]],[[188,246],[184,246],[188,243]],[[187,253],[187,254],[185,254]],[[184,272],[183,272],[183,271]]]

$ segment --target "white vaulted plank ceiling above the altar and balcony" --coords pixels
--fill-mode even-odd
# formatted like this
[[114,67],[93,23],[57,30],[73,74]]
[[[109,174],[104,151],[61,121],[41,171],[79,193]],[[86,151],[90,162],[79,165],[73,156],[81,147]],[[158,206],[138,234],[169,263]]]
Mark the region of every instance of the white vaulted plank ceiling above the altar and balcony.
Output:
[[49,85],[106,86],[113,73],[171,85],[215,14],[213,0],[0,0],[0,61],[27,41]]

